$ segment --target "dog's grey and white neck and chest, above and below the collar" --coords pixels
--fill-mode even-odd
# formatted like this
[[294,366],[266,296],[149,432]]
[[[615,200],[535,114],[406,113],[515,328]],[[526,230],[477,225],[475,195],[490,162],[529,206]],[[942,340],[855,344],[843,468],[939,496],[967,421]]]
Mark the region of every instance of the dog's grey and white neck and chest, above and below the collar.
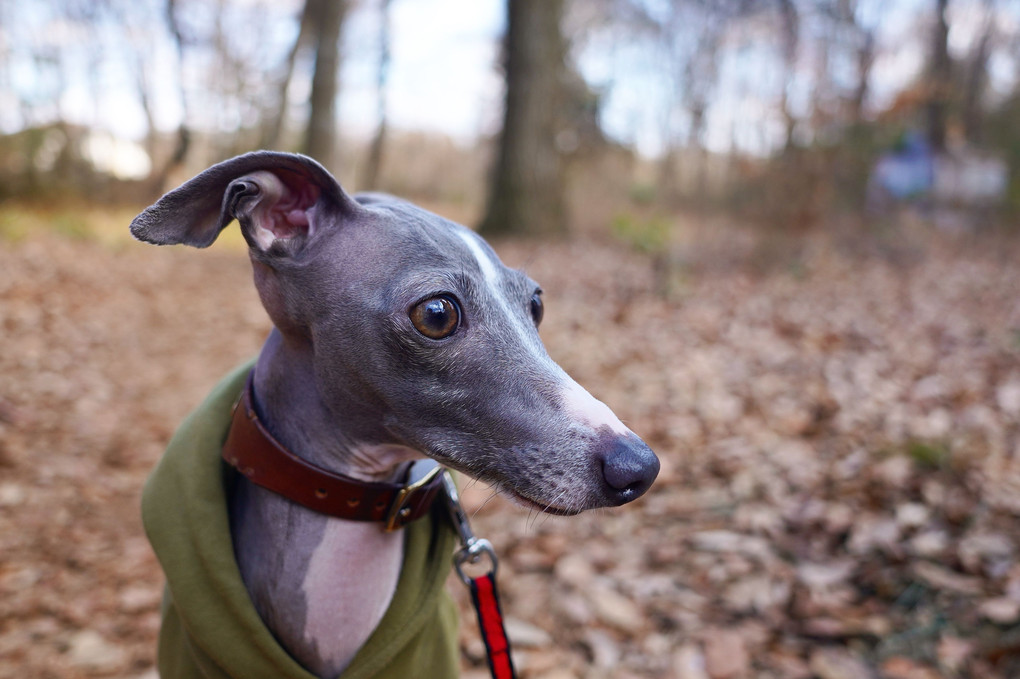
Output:
[[[311,362],[273,331],[255,368],[259,415],[296,455],[362,480],[393,480],[408,449],[351,440],[309,395]],[[337,676],[378,625],[396,590],[403,531],[345,521],[240,479],[231,501],[235,553],[256,610],[305,668]]]

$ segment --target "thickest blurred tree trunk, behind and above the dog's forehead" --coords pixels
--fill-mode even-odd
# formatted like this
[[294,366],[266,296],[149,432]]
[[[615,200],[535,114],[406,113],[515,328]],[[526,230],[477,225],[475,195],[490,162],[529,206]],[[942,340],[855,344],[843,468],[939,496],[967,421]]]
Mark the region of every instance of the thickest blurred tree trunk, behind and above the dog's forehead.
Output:
[[479,230],[566,230],[562,119],[566,46],[563,0],[507,0],[506,108],[499,157]]

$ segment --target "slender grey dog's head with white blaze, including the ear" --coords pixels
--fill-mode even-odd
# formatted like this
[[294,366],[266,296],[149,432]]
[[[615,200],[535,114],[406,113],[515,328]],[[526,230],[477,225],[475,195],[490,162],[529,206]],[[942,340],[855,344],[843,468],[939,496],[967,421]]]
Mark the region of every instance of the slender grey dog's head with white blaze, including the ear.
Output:
[[546,353],[538,283],[469,229],[257,152],[168,193],[132,232],[203,248],[235,218],[266,311],[307,346],[310,388],[360,441],[560,514],[622,505],[655,479],[652,451]]

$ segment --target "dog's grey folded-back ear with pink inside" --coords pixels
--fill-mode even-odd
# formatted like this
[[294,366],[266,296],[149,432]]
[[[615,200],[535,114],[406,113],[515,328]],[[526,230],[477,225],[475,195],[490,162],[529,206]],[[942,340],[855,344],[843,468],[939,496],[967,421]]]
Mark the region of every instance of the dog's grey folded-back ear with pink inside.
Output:
[[207,248],[235,218],[248,245],[295,252],[337,211],[357,210],[306,156],[256,151],[213,165],[135,217],[132,234],[155,245]]

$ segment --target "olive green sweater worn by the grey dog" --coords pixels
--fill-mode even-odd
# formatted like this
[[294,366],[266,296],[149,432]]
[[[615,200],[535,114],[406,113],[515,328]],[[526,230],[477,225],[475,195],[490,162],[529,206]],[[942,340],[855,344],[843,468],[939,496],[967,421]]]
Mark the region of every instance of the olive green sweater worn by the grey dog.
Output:
[[[219,452],[251,364],[232,372],[173,435],[142,495],[166,573],[162,679],[314,679],[259,618],[234,560]],[[404,565],[379,626],[340,679],[458,676],[457,612],[444,589],[456,536],[434,512],[404,528]]]

